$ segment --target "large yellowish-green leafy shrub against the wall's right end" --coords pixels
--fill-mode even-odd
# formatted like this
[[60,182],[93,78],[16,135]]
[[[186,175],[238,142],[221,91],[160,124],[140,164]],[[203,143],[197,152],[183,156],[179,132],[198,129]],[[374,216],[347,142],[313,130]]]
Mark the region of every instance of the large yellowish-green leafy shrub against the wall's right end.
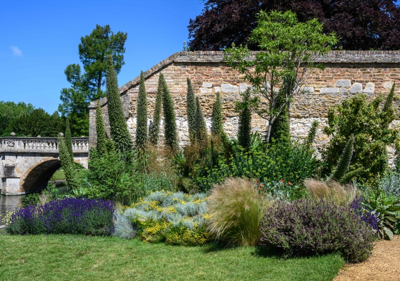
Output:
[[322,153],[327,163],[326,173],[337,165],[350,135],[354,135],[354,152],[349,173],[352,172],[358,181],[365,181],[370,173],[372,176],[382,174],[387,168],[386,145],[398,143],[399,130],[388,127],[396,118],[391,108],[392,98],[390,95],[386,98],[387,111],[379,108],[382,101],[382,95],[368,102],[365,94],[356,94],[329,108],[327,126],[323,128],[331,137]]

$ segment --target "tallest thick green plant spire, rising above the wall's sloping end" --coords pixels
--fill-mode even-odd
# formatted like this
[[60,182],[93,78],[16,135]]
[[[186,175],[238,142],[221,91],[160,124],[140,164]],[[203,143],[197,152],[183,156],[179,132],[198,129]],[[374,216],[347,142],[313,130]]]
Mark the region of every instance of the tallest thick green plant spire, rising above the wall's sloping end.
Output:
[[133,143],[126,126],[125,114],[123,113],[122,102],[119,97],[118,81],[111,55],[107,55],[105,90],[111,138],[114,141],[115,150],[125,154],[132,149]]

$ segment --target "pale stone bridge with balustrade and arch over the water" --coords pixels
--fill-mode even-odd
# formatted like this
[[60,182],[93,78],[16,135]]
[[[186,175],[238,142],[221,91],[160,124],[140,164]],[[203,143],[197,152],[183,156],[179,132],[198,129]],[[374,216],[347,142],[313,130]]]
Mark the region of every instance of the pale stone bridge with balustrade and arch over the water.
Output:
[[[73,158],[87,168],[88,137],[72,137]],[[41,190],[61,166],[56,137],[0,137],[1,194]]]

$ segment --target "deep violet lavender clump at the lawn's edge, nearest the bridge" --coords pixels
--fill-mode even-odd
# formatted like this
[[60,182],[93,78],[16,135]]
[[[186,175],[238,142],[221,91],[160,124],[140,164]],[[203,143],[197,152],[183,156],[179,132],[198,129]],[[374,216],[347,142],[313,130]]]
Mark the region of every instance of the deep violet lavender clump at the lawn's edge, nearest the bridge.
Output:
[[10,234],[111,235],[113,213],[111,201],[71,197],[55,199],[44,205],[16,210],[5,231]]

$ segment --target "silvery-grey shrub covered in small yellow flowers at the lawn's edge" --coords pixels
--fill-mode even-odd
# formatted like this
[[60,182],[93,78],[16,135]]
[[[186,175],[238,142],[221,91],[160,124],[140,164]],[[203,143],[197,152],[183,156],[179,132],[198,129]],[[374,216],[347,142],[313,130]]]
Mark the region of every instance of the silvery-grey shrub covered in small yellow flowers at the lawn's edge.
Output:
[[[114,235],[137,236],[145,242],[202,245],[214,240],[205,230],[210,214],[205,194],[157,191],[148,194],[117,216]],[[129,224],[126,220],[132,221]]]

